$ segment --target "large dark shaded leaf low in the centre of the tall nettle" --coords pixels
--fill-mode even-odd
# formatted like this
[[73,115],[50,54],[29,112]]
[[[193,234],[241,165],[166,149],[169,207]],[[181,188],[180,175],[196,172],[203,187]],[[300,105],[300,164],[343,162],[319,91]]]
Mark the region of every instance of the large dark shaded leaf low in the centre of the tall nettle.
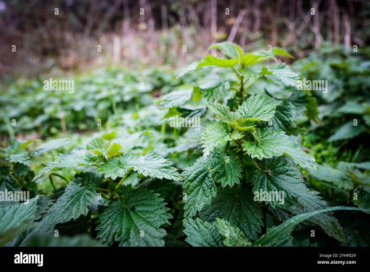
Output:
[[212,204],[205,206],[200,216],[208,222],[214,222],[216,218],[225,219],[252,240],[257,239],[263,226],[262,205],[253,201],[253,195],[248,189],[240,186],[219,190]]

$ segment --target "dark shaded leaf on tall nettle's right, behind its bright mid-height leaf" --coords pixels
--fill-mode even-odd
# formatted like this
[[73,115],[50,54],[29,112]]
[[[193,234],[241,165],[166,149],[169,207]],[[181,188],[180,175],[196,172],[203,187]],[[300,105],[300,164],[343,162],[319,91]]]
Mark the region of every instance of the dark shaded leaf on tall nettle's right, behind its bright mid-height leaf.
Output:
[[284,101],[283,105],[278,105],[275,116],[271,118],[272,125],[276,129],[285,131],[287,135],[306,134],[307,131],[304,128],[294,125],[293,108],[295,108],[294,105],[289,101]]

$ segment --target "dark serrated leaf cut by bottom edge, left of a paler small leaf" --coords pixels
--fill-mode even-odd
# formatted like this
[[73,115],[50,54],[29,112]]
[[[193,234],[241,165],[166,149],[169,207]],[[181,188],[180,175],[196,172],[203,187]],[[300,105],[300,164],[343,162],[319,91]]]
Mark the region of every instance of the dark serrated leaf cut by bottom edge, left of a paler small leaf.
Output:
[[191,218],[184,219],[184,233],[186,234],[185,241],[192,246],[223,246],[221,234],[217,231],[216,222],[209,224],[202,222],[196,218],[195,221]]

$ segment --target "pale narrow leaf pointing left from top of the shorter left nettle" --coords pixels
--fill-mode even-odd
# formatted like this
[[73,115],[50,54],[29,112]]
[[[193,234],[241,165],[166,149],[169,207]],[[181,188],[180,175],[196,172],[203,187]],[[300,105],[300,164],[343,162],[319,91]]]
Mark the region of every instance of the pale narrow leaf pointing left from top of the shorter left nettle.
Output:
[[98,157],[94,157],[92,154],[86,153],[84,149],[72,150],[69,154],[61,155],[57,161],[50,162],[50,164],[46,165],[46,167],[38,172],[32,181],[58,168],[75,168],[79,165],[94,165],[97,158]]

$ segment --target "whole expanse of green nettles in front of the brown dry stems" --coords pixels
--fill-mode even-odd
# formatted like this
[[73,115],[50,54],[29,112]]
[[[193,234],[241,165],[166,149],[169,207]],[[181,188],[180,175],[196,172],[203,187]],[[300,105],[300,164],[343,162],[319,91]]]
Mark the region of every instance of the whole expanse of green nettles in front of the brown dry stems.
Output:
[[370,52],[212,48],[4,85],[0,191],[31,200],[0,202],[0,245],[369,246]]

